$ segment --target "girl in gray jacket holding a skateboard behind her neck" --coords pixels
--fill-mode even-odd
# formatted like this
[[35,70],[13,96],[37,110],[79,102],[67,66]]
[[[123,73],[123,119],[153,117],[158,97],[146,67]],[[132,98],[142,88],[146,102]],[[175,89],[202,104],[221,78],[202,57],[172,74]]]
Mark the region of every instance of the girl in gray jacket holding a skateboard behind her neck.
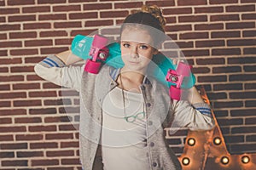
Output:
[[164,26],[157,6],[128,15],[121,26],[121,69],[104,65],[99,74],[88,73],[84,65],[71,65],[81,59],[70,51],[49,55],[35,66],[38,76],[79,92],[84,169],[181,169],[166,144],[164,128],[213,127],[210,107],[195,87],[188,90],[188,100],[171,100],[168,89],[148,75],[161,42],[152,30],[164,33]]

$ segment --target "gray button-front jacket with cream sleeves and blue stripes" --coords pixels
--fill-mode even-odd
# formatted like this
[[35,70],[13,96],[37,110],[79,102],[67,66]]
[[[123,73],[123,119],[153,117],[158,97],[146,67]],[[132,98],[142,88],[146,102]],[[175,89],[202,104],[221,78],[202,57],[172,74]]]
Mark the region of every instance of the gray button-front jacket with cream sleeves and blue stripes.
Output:
[[[99,74],[84,71],[84,66],[66,66],[50,55],[35,66],[38,76],[49,82],[74,88],[80,94],[79,151],[84,169],[102,169],[102,101],[118,84],[119,70],[104,65]],[[168,89],[152,77],[140,86],[146,106],[146,133],[150,169],[182,169],[165,139],[165,127],[210,129],[214,126],[207,104],[172,103]],[[97,154],[96,154],[97,152]]]

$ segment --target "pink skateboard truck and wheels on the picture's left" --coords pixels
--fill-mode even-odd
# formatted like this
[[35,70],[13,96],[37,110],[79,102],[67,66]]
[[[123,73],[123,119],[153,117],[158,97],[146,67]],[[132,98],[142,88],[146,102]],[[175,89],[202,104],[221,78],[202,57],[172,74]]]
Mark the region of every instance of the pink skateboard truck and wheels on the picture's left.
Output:
[[84,71],[98,74],[102,66],[102,62],[106,61],[108,57],[108,39],[100,35],[95,35],[90,47],[89,55],[91,59],[87,59]]

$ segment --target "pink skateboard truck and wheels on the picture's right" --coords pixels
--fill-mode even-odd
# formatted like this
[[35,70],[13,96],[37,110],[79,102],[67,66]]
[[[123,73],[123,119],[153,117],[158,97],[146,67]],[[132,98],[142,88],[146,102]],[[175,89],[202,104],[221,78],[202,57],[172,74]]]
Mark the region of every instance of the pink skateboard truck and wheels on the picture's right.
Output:
[[169,89],[169,94],[171,99],[180,100],[181,95],[183,93],[183,89],[181,88],[184,77],[189,77],[191,65],[187,65],[183,62],[179,62],[177,65],[177,69],[167,71],[166,81],[172,82],[174,85],[171,85]]

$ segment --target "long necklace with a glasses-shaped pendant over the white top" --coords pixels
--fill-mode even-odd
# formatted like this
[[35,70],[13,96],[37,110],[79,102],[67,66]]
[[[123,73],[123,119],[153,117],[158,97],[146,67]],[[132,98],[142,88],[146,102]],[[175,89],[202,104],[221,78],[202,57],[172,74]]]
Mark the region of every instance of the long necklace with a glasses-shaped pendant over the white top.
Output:
[[131,115],[131,116],[126,116],[125,93],[124,93],[124,86],[123,86],[123,82],[122,82],[122,74],[121,73],[120,73],[120,85],[121,85],[122,98],[123,98],[125,121],[126,122],[135,122],[137,119],[143,120],[146,116],[144,102],[143,102],[143,111],[142,112],[138,112],[137,114],[134,114],[134,115]]

